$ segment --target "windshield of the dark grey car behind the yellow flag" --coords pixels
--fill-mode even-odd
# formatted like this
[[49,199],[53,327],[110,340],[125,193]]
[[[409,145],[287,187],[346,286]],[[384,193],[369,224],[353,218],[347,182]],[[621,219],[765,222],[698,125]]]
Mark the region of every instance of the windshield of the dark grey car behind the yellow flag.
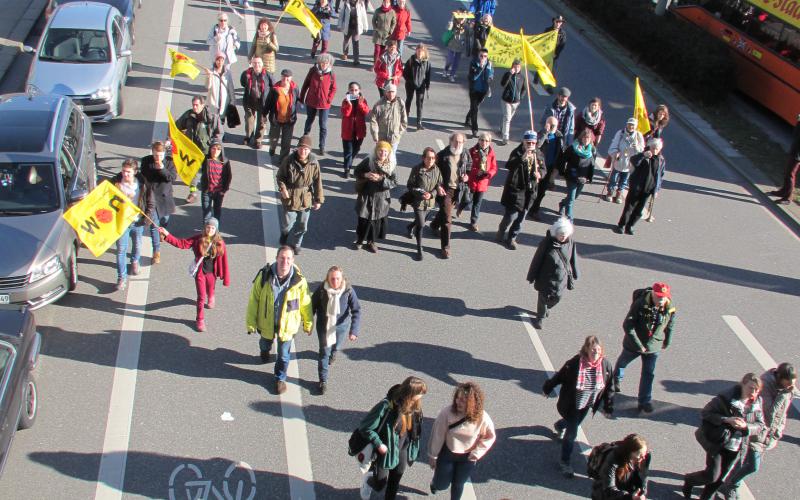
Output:
[[0,163],[0,216],[52,212],[58,205],[52,165]]

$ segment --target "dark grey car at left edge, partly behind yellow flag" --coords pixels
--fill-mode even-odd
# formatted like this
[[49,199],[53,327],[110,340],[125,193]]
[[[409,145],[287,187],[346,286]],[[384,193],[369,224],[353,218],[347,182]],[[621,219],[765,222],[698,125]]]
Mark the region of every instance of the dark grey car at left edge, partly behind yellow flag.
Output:
[[96,186],[91,120],[68,97],[0,96],[0,308],[54,302],[78,283],[62,217]]

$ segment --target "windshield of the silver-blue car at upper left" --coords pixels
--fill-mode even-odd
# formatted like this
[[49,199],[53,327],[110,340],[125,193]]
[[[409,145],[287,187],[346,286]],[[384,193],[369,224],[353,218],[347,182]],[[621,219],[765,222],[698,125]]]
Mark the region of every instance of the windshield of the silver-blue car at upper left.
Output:
[[111,61],[111,48],[105,31],[51,28],[42,43],[39,59],[63,63],[107,63]]

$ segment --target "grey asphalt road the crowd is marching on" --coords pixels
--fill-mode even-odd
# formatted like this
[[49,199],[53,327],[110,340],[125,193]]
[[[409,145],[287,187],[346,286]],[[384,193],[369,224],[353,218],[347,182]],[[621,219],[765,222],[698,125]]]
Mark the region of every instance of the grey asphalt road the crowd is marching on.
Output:
[[[158,110],[159,103],[171,101],[177,116],[188,109],[191,95],[205,93],[202,79],[172,80],[164,72],[166,43],[205,62],[205,38],[218,4],[189,0],[184,9],[173,12],[175,1],[183,3],[145,2],[139,11],[126,113],[95,129],[102,175],[116,172],[123,158],[146,154],[154,136],[163,137],[164,110]],[[434,68],[440,71],[444,54],[438,40],[456,3],[410,3],[411,41],[433,44]],[[259,4],[256,10],[271,19],[279,14],[274,5]],[[251,39],[255,24],[253,14],[248,15],[247,22],[229,15],[245,41]],[[512,31],[521,25],[533,33],[551,17],[539,2],[504,0],[495,24]],[[302,80],[310,65],[308,33],[294,21],[282,21],[279,37],[278,68],[291,68]],[[362,44],[369,53],[371,44]],[[246,53],[246,46],[240,54]],[[338,55],[340,49],[337,31],[331,50]],[[20,65],[24,60],[3,82],[3,92],[21,88],[20,75],[26,68]],[[235,74],[244,68],[240,59]],[[402,139],[402,183],[425,146],[438,149],[438,141],[446,142],[451,131],[460,129],[468,105],[466,62],[460,71],[455,84],[436,77],[426,103],[429,129],[418,132],[412,127]],[[369,103],[375,102],[377,91],[367,65],[353,68],[337,61],[335,72],[340,89],[359,81]],[[631,115],[632,82],[574,32],[569,32],[557,77],[572,89],[579,109],[591,97],[603,98],[609,122],[601,144],[604,153],[613,132]],[[343,94],[340,90],[337,103]],[[499,128],[499,94],[496,91],[481,108],[481,129]],[[549,99],[535,96],[537,116]],[[303,120],[301,116],[296,134]],[[521,108],[514,136],[521,137],[527,120]],[[540,392],[546,369],[550,363],[560,367],[589,334],[600,336],[615,359],[631,290],[657,280],[672,285],[679,317],[673,346],[657,368],[656,411],[648,417],[636,414],[639,364],[634,363],[626,374],[616,418],[598,415],[587,419],[583,428],[593,444],[631,432],[643,434],[655,457],[650,496],[677,498],[682,475],[701,468],[704,461],[693,436],[699,408],[745,372],[762,371],[752,342],[743,343],[723,316],[741,319],[776,360],[800,362],[800,241],[753,198],[742,179],[677,123],[666,132],[668,174],[655,223],[641,223],[635,236],[615,234],[611,228],[620,207],[598,202],[601,182],[588,186],[578,200],[575,237],[582,277],[545,329],[533,337],[541,341],[539,350],[521,315],[535,309],[525,274],[547,224],[526,221],[517,251],[493,241],[502,214],[505,170],[501,167],[484,202],[482,233],[468,232],[463,218],[455,224],[450,260],[437,258],[438,241],[426,232],[425,260],[413,261],[414,244],[402,235],[411,215],[397,210],[391,214],[391,235],[381,252],[358,252],[349,248],[355,229],[354,189],[352,181],[340,175],[338,106],[329,129],[329,154],[322,160],[326,203],[311,217],[297,263],[314,285],[329,266],[342,266],[362,300],[364,320],[361,337],[332,369],[328,394],[316,395],[315,337],[297,337],[293,363],[299,379],[291,379],[292,389],[280,398],[273,390],[272,365],[259,364],[257,339],[244,333],[250,281],[265,258],[274,255],[278,233],[273,167],[265,152],[241,145],[239,128],[228,134],[226,144],[234,180],[222,216],[232,280],[230,288],[218,288],[218,307],[207,315],[208,331],[193,330],[194,284],[185,271],[189,253],[163,248],[162,264],[149,276],[135,279],[127,294],[114,291],[113,253],[99,259],[84,253],[78,290],[37,312],[44,336],[40,415],[34,429],[17,434],[0,481],[0,498],[114,498],[107,487],[117,483],[125,498],[185,498],[184,487],[192,481],[192,488],[205,489],[209,498],[228,493],[235,498],[237,484],[242,498],[251,492],[254,498],[310,498],[309,491],[317,498],[354,498],[359,475],[346,455],[349,433],[392,384],[410,374],[428,383],[426,431],[448,403],[455,383],[469,379],[484,387],[498,441],[474,474],[478,498],[587,497],[590,482],[585,476],[568,481],[557,472],[559,448],[551,430],[557,418],[555,400]],[[316,127],[313,134],[316,145]],[[473,143],[468,141],[469,146]],[[371,145],[367,140],[365,149]],[[497,147],[498,157],[505,160],[513,146]],[[176,186],[175,192],[183,199],[187,188]],[[395,195],[401,192],[398,188]],[[563,189],[548,194],[545,207],[554,208],[561,196]],[[201,222],[199,204],[179,205],[170,231],[191,235]],[[555,215],[549,212],[547,218],[552,221]],[[147,241],[145,249],[149,254]],[[144,313],[137,300],[146,302]],[[123,349],[118,352],[121,338]],[[131,359],[138,370],[124,369]],[[120,363],[123,368],[115,371]],[[121,399],[126,390],[134,397]],[[132,406],[129,419],[125,404]],[[783,441],[748,482],[757,498],[795,496],[787,488],[793,483],[800,445],[796,417],[793,413]],[[109,444],[119,429],[123,437],[129,435],[122,449]],[[124,472],[124,482],[119,474],[104,475],[98,482],[101,463],[107,473]],[[574,463],[583,473],[579,457]],[[404,477],[401,494],[426,495],[430,478],[421,457]]]

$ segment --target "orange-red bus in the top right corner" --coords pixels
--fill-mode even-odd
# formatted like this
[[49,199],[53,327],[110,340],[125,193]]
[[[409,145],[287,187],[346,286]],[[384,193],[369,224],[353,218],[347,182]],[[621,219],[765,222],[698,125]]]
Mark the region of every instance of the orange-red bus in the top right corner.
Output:
[[672,13],[724,41],[739,90],[786,122],[800,113],[800,2],[681,0]]

